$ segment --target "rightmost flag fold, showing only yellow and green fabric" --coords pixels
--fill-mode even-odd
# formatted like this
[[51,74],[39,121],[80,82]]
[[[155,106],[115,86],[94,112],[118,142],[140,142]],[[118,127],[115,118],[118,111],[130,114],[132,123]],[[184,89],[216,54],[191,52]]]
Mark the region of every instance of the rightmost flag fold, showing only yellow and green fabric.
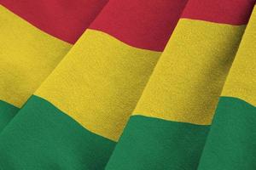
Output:
[[256,168],[256,8],[232,64],[198,169]]

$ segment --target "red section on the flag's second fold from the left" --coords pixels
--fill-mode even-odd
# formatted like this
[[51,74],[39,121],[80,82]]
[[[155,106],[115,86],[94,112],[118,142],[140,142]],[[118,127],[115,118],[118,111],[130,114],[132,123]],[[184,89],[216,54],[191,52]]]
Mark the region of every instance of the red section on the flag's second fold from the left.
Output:
[[137,48],[162,51],[187,0],[112,0],[90,26]]

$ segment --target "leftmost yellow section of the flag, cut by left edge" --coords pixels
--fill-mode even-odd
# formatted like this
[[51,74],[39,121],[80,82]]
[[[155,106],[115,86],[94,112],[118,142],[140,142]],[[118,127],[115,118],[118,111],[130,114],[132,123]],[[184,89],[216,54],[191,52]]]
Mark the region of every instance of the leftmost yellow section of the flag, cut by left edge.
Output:
[[0,5],[0,100],[20,107],[71,45]]

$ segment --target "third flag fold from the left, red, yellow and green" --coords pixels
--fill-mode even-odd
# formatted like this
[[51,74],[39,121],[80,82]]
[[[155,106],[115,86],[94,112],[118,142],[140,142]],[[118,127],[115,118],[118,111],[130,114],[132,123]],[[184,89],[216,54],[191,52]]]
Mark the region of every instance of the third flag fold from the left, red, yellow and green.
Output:
[[107,170],[197,168],[253,4],[189,0]]

